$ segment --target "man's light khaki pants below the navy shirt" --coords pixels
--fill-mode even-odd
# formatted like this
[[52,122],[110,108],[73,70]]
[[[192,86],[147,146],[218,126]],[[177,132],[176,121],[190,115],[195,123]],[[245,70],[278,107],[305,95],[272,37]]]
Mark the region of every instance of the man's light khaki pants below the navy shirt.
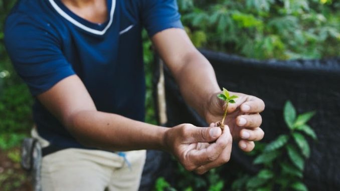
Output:
[[[49,143],[35,129],[42,146]],[[127,151],[126,159],[102,150],[68,148],[48,154],[42,162],[43,191],[138,190],[145,150]]]

